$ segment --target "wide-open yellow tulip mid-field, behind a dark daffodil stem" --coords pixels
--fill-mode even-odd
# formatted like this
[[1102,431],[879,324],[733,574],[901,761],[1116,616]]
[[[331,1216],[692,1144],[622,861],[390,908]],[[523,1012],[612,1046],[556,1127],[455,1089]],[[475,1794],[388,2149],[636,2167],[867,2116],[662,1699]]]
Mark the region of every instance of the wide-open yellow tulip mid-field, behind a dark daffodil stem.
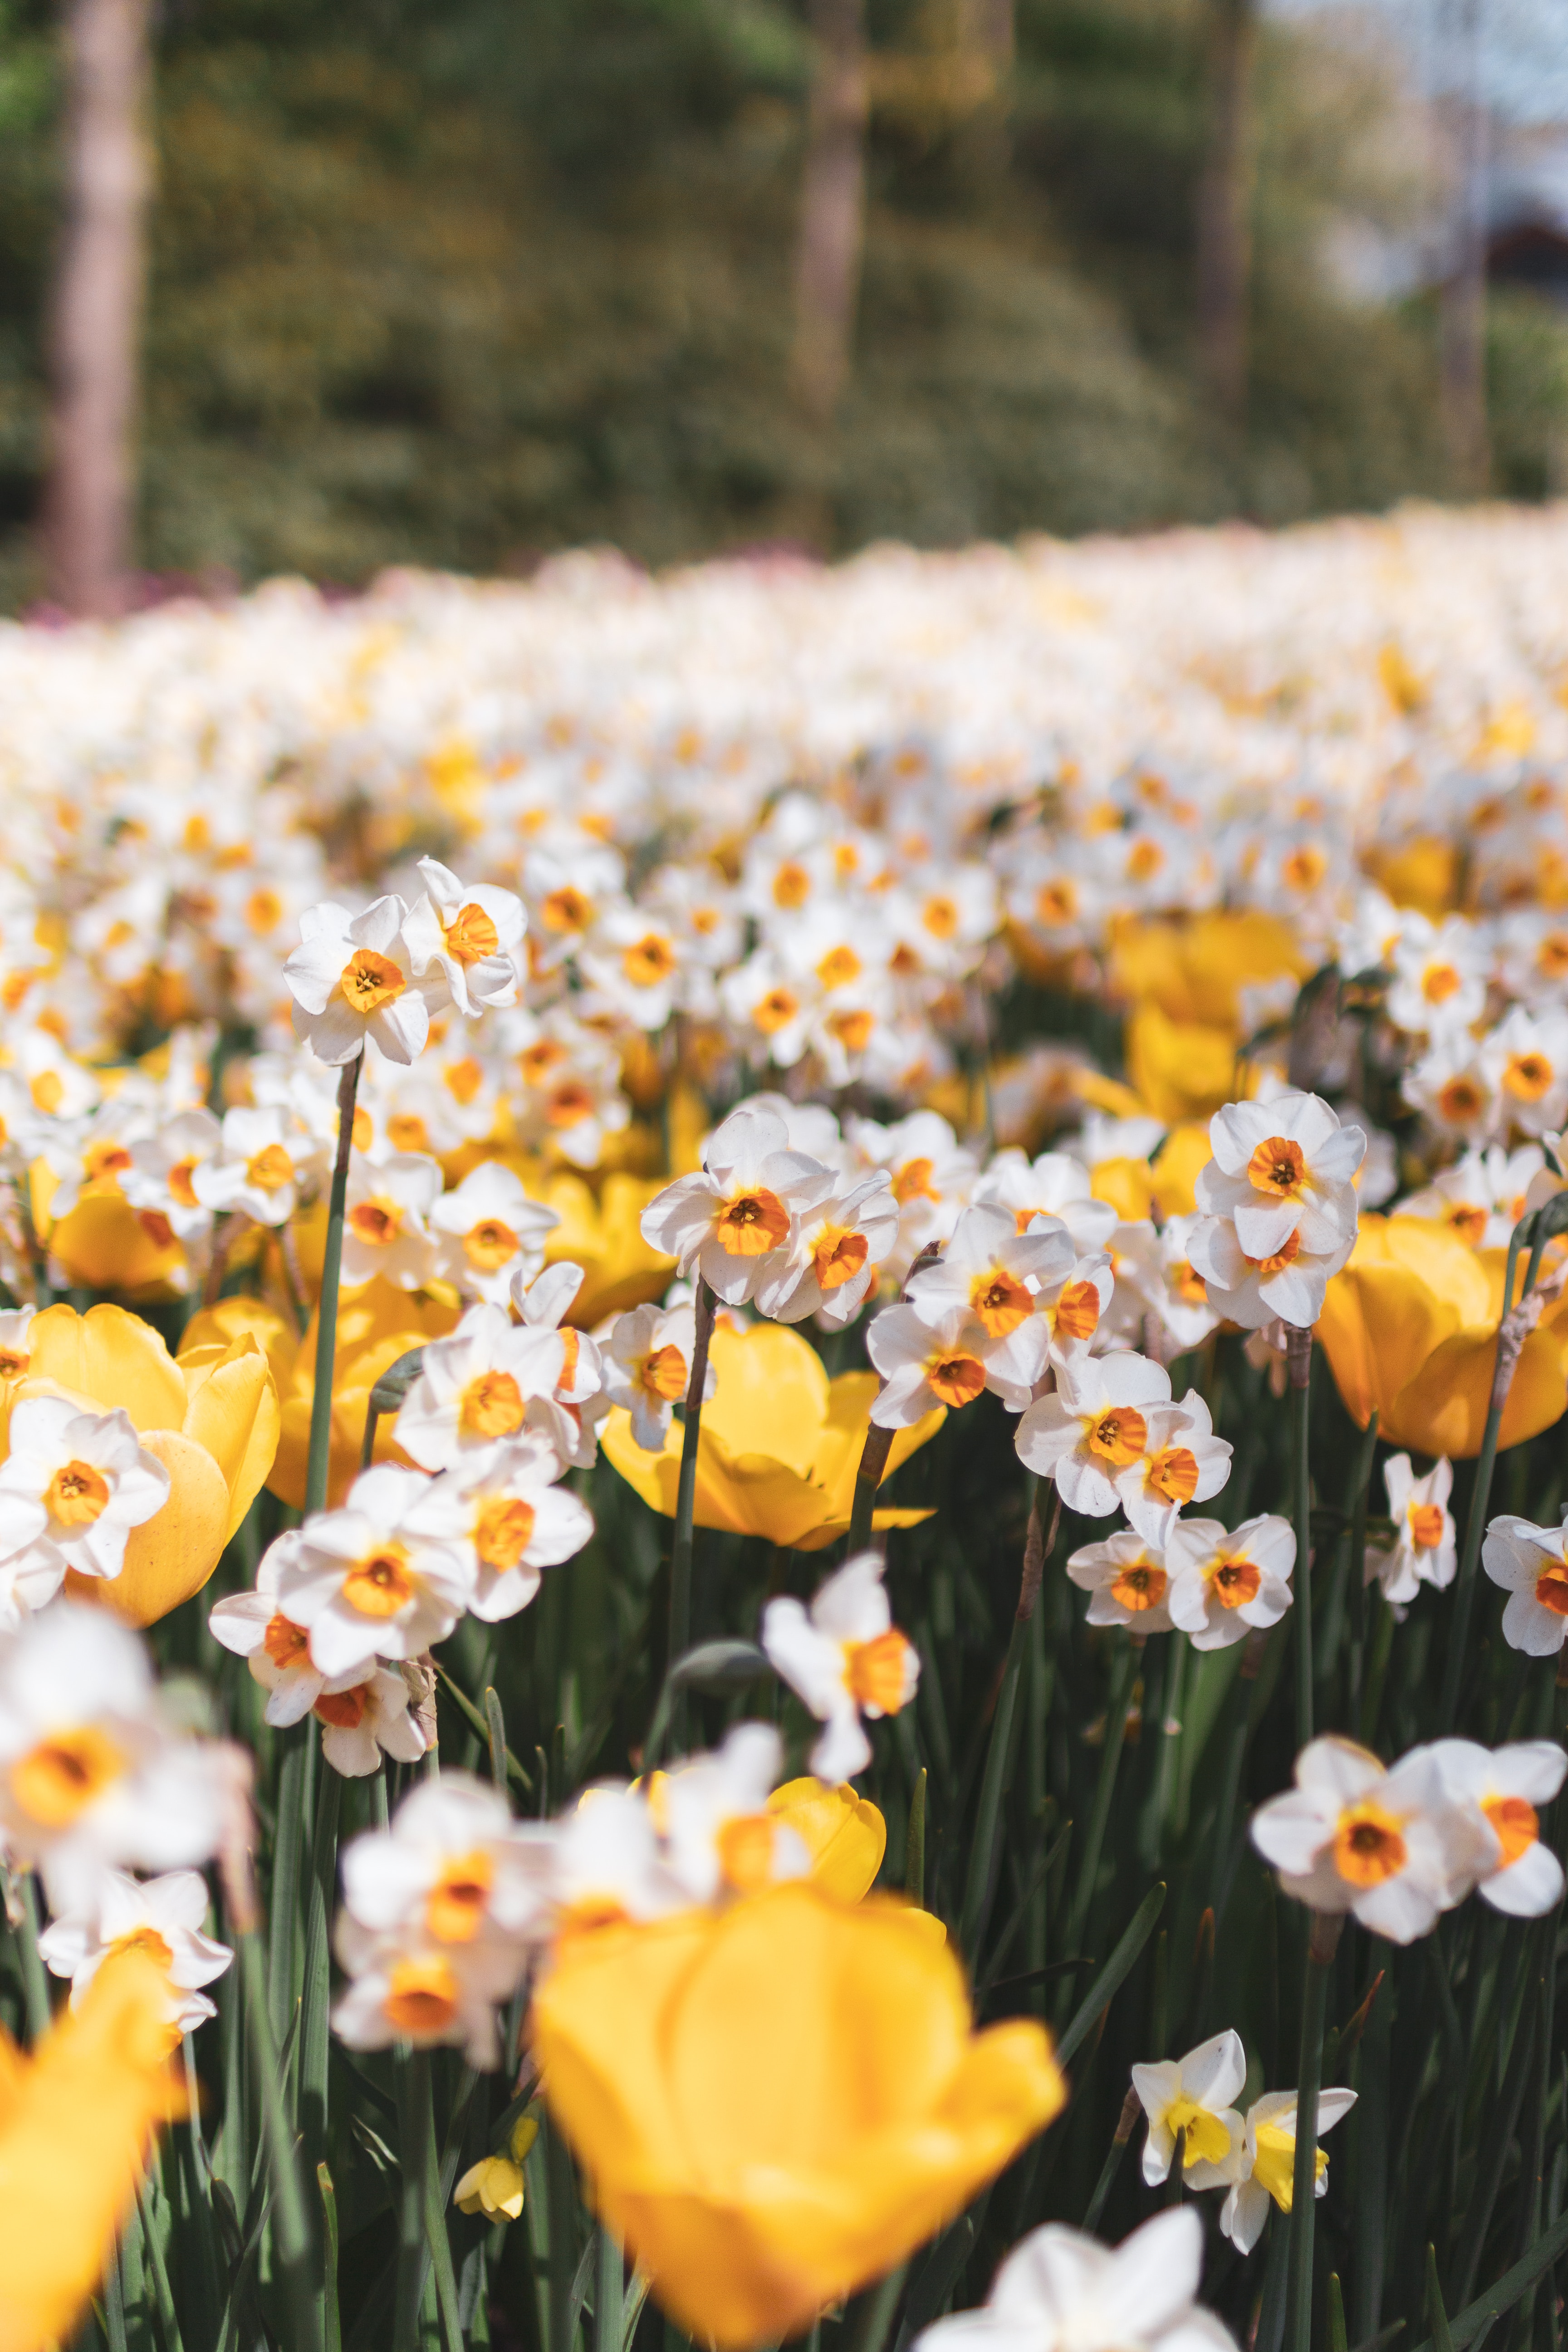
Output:
[[[830,1381],[816,1348],[771,1322],[748,1331],[719,1322],[712,1369],[696,1456],[696,1524],[820,1552],[849,1531],[877,1374],[842,1371]],[[936,1437],[945,1418],[938,1406],[914,1428],[896,1430],[886,1475]],[[599,1444],[628,1486],[672,1519],[682,1425],[670,1423],[663,1454],[644,1454],[630,1414],[616,1406]],[[872,1526],[917,1526],[929,1517],[929,1510],[879,1510]]]

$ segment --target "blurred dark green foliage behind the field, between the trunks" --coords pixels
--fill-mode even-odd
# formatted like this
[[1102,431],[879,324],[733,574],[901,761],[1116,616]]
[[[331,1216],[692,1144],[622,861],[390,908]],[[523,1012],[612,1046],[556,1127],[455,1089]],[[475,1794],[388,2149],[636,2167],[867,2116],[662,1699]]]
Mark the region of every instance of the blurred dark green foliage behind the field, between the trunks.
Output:
[[[143,562],[357,581],[581,541],[672,562],[1443,489],[1429,325],[1321,270],[1345,207],[1410,200],[1366,61],[1265,33],[1237,447],[1194,353],[1204,0],[1018,0],[1006,106],[978,108],[954,101],[950,9],[870,7],[891,71],[856,376],[818,435],[788,390],[792,0],[169,0]],[[38,593],[52,28],[45,0],[0,0],[9,602]],[[1519,327],[1497,348],[1505,480],[1528,489],[1561,369]]]

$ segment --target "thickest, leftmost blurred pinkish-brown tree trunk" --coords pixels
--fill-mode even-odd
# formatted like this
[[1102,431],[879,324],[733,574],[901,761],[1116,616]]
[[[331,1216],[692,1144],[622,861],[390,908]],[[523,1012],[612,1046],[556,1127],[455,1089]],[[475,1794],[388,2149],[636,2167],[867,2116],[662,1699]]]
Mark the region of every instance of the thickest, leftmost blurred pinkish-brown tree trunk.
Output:
[[150,179],[146,85],[148,0],[68,0],[45,536],[49,590],[78,614],[115,614],[127,595]]

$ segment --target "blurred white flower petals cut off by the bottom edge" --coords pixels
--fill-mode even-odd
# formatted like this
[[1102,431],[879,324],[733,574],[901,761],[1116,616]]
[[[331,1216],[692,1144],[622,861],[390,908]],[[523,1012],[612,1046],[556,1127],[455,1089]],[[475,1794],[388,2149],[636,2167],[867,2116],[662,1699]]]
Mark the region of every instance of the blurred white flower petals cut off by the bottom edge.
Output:
[[1119,2246],[1046,2223],[1020,2239],[976,2312],[952,2312],[917,2352],[1237,2352],[1197,2307],[1204,2225],[1192,2206],[1157,2213]]

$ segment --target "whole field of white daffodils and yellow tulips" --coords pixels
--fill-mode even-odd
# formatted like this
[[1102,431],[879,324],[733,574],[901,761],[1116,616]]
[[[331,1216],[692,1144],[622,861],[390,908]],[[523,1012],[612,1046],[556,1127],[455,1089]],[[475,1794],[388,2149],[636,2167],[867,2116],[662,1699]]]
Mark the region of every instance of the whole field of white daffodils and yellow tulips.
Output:
[[5,628],[0,795],[0,2352],[1559,2347],[1566,515]]

